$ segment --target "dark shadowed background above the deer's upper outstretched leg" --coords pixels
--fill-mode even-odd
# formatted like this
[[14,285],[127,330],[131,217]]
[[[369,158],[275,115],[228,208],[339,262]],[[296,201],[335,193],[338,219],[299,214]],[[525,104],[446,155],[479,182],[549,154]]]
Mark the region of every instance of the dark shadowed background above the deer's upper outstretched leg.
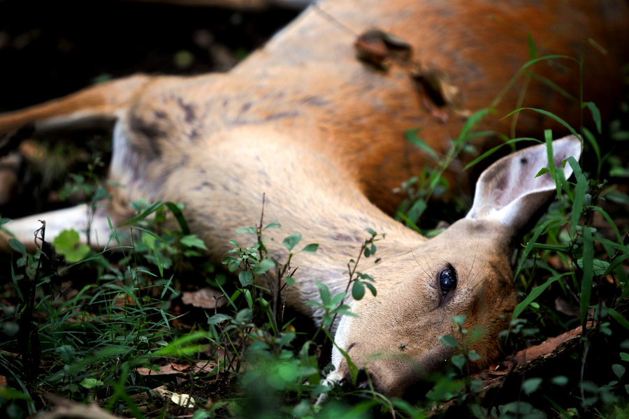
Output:
[[0,111],[133,73],[227,71],[297,13],[111,0],[0,1]]

